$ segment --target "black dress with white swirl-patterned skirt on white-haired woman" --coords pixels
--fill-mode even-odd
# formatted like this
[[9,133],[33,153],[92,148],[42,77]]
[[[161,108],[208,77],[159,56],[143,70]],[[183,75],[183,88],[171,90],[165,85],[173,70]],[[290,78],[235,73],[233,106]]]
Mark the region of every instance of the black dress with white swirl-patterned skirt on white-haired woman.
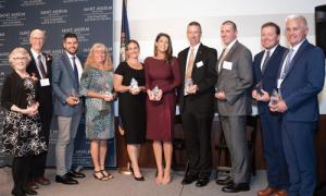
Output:
[[36,84],[13,72],[4,81],[1,106],[7,109],[3,126],[0,128],[0,151],[7,156],[25,157],[47,150],[46,139],[40,136],[39,115],[26,115],[11,111],[13,105],[27,108],[28,100],[37,100]]

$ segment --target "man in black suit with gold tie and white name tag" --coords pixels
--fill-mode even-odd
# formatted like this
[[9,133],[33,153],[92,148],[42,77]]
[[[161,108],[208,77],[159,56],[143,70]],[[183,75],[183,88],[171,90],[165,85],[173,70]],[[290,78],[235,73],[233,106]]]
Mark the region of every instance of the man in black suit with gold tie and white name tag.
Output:
[[187,26],[190,47],[178,53],[183,85],[178,89],[179,109],[185,131],[188,170],[181,184],[205,186],[212,168],[211,127],[214,117],[214,84],[217,51],[200,42],[201,26]]

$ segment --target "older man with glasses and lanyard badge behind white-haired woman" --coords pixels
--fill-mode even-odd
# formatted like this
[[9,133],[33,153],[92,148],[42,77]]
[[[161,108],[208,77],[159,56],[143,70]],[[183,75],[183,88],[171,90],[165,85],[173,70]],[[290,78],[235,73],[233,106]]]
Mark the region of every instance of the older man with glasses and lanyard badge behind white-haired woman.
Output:
[[[50,125],[52,119],[52,89],[51,89],[51,63],[52,58],[49,53],[42,52],[46,33],[40,29],[34,29],[29,35],[32,61],[27,66],[29,75],[38,78],[39,114],[42,124],[40,134],[49,144]],[[32,189],[38,188],[38,184],[50,184],[49,179],[45,177],[48,151],[34,156],[32,160],[32,173],[29,174],[29,186]]]

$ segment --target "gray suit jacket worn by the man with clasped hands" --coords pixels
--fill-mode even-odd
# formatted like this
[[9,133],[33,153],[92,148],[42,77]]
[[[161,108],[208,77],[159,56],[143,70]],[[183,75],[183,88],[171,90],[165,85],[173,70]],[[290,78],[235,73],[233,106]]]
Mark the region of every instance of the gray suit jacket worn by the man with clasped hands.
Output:
[[[221,59],[220,59],[221,60]],[[224,62],[230,62],[231,69],[222,69],[216,87],[225,91],[226,100],[217,100],[221,115],[251,114],[252,56],[248,48],[236,41],[229,49]],[[218,70],[218,62],[216,63]]]

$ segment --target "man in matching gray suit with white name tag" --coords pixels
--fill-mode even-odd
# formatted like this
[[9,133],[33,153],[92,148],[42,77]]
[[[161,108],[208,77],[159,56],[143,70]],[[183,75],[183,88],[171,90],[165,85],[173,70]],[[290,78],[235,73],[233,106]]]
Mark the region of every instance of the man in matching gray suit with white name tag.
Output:
[[249,155],[246,140],[246,115],[251,114],[249,88],[252,84],[252,56],[237,40],[237,26],[226,21],[221,26],[225,48],[217,61],[218,73],[215,98],[226,144],[231,159],[231,176],[216,181],[226,193],[249,191]]

